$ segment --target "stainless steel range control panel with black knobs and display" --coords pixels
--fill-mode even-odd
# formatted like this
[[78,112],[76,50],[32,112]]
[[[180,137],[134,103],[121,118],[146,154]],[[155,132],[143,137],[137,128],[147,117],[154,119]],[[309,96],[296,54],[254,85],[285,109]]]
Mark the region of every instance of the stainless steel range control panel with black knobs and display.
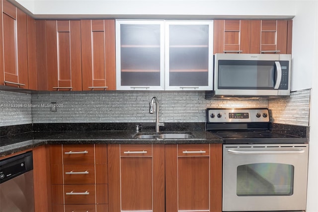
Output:
[[269,122],[267,108],[207,108],[209,123]]

